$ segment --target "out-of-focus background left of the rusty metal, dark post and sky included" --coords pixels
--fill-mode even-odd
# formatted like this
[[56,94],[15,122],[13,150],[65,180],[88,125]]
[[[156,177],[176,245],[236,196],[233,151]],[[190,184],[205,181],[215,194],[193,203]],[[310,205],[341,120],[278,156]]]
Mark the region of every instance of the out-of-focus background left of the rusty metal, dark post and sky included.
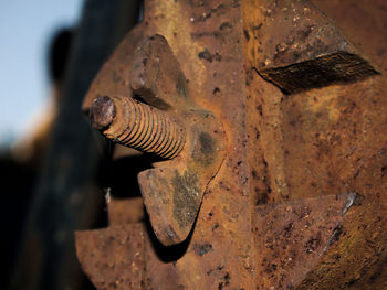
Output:
[[0,1],[1,289],[94,289],[74,232],[106,225],[115,170],[83,97],[136,0]]

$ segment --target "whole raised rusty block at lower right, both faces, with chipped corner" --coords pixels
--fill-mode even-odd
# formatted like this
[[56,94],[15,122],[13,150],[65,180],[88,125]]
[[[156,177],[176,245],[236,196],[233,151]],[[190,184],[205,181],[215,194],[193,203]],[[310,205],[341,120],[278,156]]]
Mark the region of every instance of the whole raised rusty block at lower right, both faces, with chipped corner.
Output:
[[360,278],[373,289],[373,268],[387,258],[387,212],[364,202],[349,193],[259,206],[258,289],[356,289]]

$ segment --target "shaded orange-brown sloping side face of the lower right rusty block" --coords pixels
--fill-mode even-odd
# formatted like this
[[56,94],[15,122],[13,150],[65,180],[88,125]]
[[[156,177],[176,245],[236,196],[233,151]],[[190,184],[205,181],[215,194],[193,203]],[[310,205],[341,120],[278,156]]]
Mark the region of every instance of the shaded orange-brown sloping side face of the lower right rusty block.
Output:
[[386,206],[360,203],[345,214],[326,253],[296,289],[386,289]]

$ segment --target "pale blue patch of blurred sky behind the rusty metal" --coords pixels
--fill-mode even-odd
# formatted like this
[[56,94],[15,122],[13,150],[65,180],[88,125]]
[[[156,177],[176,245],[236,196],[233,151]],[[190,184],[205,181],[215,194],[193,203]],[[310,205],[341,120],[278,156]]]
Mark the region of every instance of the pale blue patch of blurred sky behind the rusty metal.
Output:
[[48,100],[51,36],[77,23],[82,4],[82,0],[0,1],[0,144],[22,135]]

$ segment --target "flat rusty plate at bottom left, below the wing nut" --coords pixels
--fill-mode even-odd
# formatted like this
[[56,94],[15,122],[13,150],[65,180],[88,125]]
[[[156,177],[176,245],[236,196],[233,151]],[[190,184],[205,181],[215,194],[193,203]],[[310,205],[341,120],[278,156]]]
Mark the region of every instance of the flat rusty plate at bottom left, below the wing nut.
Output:
[[140,289],[144,276],[142,224],[77,232],[76,254],[97,289]]

